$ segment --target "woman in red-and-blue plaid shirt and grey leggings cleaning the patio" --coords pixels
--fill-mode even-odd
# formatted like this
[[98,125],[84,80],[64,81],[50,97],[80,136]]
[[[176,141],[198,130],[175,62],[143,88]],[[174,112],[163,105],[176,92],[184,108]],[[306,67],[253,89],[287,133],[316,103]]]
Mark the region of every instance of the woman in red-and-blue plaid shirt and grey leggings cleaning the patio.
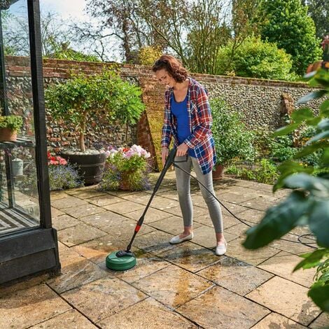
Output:
[[[165,92],[165,120],[162,127],[162,163],[168,156],[172,137],[176,147],[176,161],[187,172],[193,167],[197,179],[214,193],[211,170],[216,162],[214,139],[211,134],[211,111],[207,92],[173,56],[162,55],[153,65],[159,82],[169,88]],[[187,155],[187,157],[186,157]],[[193,239],[193,205],[190,197],[190,176],[175,167],[179,204],[183,215],[184,230],[169,242]],[[211,221],[216,232],[216,255],[226,252],[223,234],[223,218],[218,201],[200,185],[202,196],[207,203]]]

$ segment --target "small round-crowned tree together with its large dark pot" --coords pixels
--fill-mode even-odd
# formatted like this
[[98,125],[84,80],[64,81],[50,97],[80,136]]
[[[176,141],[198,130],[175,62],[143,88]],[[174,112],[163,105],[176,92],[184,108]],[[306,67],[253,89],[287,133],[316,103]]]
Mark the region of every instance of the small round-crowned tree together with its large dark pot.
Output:
[[62,151],[62,156],[80,167],[85,183],[101,181],[106,160],[104,149],[85,148],[87,125],[95,121],[109,125],[136,123],[144,111],[140,96],[139,87],[123,81],[113,69],[94,76],[79,74],[45,90],[52,118],[64,120],[78,132],[80,148]]

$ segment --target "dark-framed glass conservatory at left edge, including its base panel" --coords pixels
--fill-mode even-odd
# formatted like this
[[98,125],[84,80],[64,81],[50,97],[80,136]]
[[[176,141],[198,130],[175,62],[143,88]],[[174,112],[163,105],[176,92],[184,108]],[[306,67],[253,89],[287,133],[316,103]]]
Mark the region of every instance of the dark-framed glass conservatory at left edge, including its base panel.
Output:
[[[38,0],[0,0],[0,283],[60,269],[52,228]],[[13,40],[13,19],[26,34]],[[15,56],[13,56],[15,55]],[[25,63],[11,74],[15,59]],[[9,134],[8,132],[13,133]]]

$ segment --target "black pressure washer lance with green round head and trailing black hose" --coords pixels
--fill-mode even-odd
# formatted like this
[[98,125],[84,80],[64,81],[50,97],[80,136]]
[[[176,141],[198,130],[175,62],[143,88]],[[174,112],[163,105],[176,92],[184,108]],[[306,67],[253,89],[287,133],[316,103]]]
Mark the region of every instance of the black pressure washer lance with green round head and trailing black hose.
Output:
[[[148,208],[150,207],[150,204],[153,200],[153,197],[155,196],[155,193],[157,193],[157,191],[160,188],[160,185],[162,183],[162,180],[165,177],[165,174],[167,173],[167,170],[172,165],[174,165],[174,167],[176,167],[176,168],[181,169],[183,172],[190,175],[193,179],[195,179],[198,183],[200,183],[200,185],[202,185],[211,195],[213,195],[214,198],[219,202],[219,204],[221,204],[221,206],[223,208],[225,208],[238,221],[240,221],[241,223],[244,223],[248,227],[251,227],[251,225],[249,225],[245,221],[241,220],[241,218],[238,218],[237,216],[235,216],[235,214],[233,214],[232,211],[230,211],[230,209],[225,207],[225,205],[217,199],[216,195],[214,195],[206,186],[204,186],[204,184],[202,184],[200,181],[198,181],[195,176],[193,176],[192,174],[187,172],[185,169],[179,167],[179,165],[176,165],[179,162],[186,162],[187,159],[188,159],[188,155],[186,155],[186,160],[182,160],[182,161],[175,161],[174,160],[175,156],[176,156],[176,148],[173,148],[172,151],[169,152],[169,155],[168,155],[167,160],[165,162],[165,166],[162,169],[162,172],[161,172],[161,174],[158,178],[158,181],[155,183],[155,186],[153,188],[153,193],[150,197],[150,200],[148,200],[148,204],[146,205],[146,208],[145,208],[143,214],[141,215],[141,218],[139,218],[139,221],[137,222],[136,228],[134,230],[134,235],[132,236],[132,239],[130,240],[130,243],[128,244],[126,250],[120,250],[118,252],[110,253],[106,257],[106,267],[108,267],[109,269],[125,270],[125,269],[130,269],[130,268],[134,267],[134,265],[136,265],[136,256],[134,255],[134,253],[132,253],[132,251],[130,251],[130,249],[132,248],[132,243],[133,243],[137,233],[139,232],[139,230],[141,228],[141,225],[143,225],[143,223],[144,223],[144,218],[145,218],[145,215],[146,215],[146,211],[148,211]],[[283,239],[283,238],[281,238],[281,239],[285,240],[285,241],[301,243],[301,244],[304,244],[306,246],[310,246],[311,248],[316,248],[314,246],[311,246],[311,244],[315,244],[315,242],[314,243],[313,242],[305,243],[305,242],[301,241],[301,237],[306,237],[306,236],[307,235],[300,235],[298,237],[298,241],[293,241],[293,240],[290,240],[290,239]]]

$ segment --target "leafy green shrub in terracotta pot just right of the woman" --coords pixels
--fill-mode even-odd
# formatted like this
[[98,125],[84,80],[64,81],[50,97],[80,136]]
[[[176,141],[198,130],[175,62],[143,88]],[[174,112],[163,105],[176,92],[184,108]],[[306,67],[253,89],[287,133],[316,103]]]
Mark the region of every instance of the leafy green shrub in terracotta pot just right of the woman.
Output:
[[224,167],[229,165],[234,158],[249,161],[255,158],[254,134],[242,123],[241,115],[233,111],[223,99],[211,99],[210,106],[213,117],[211,131],[217,158],[213,177],[219,179],[223,175]]

